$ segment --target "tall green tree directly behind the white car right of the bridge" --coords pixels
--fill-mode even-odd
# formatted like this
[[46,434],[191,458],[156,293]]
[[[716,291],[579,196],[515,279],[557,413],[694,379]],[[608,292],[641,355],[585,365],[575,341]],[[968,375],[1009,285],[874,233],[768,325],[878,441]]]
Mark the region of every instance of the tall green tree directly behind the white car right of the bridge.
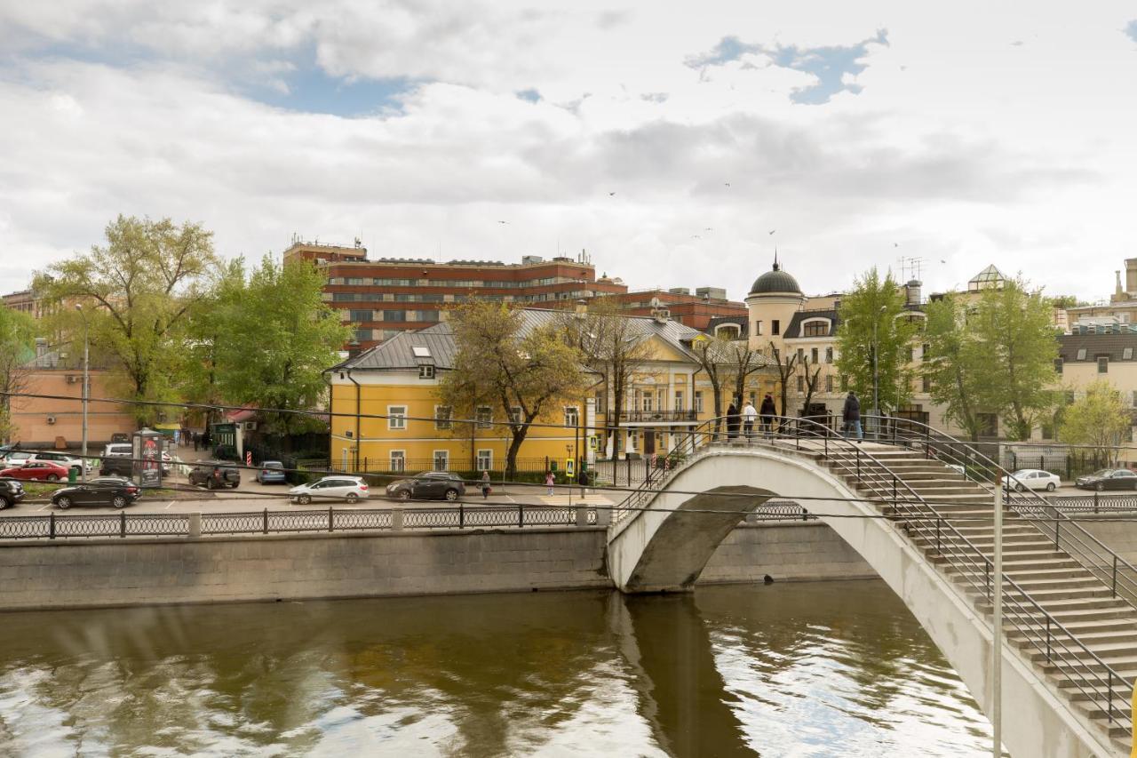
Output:
[[984,395],[1012,439],[1029,439],[1035,422],[1054,406],[1049,384],[1057,340],[1052,315],[1046,298],[1027,291],[1021,279],[984,290],[968,315],[985,366]]

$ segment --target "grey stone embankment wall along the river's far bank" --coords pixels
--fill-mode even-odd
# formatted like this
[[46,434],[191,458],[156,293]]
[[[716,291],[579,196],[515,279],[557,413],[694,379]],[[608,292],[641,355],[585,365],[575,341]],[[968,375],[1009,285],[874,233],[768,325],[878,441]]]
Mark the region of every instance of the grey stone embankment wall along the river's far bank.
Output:
[[[92,539],[0,544],[0,610],[611,587],[605,530]],[[823,524],[745,525],[704,580],[874,576]]]

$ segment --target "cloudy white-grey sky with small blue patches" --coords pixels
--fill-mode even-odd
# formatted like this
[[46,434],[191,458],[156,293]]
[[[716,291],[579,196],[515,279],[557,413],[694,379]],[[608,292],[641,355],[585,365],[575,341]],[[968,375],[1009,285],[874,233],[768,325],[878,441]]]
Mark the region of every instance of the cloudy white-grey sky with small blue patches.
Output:
[[225,257],[586,249],[740,299],[777,247],[807,294],[919,258],[1095,300],[1134,92],[1132,2],[0,0],[0,290],[126,214]]

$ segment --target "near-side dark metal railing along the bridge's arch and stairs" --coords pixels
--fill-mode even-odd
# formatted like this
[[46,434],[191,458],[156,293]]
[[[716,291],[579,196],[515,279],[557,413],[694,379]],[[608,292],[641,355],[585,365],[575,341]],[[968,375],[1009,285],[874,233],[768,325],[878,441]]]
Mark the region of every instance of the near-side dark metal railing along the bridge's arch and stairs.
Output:
[[[981,599],[981,602],[976,601],[981,612],[990,612],[998,594],[1005,609],[1004,625],[1019,636],[1019,645],[1027,651],[1028,657],[1045,661],[1048,673],[1063,681],[1060,686],[1078,691],[1082,700],[1106,716],[1111,727],[1119,726],[1131,733],[1132,724],[1126,714],[1132,682],[1102,660],[1006,572],[1003,572],[1002,584],[998,585],[1002,592],[996,593],[991,559],[883,460],[865,450],[857,440],[836,436],[830,428],[808,419],[767,417],[765,421],[752,434],[739,435],[733,429],[722,432],[722,420],[713,419],[694,429],[679,447],[684,455],[690,456],[722,445],[769,444],[792,446],[795,451],[824,460],[830,470],[847,480],[855,480],[862,489],[868,491],[868,500],[890,509],[908,538],[919,538],[924,545],[933,547],[939,562],[948,566],[958,580],[970,587],[974,598]],[[933,436],[932,431],[929,429],[926,432],[928,439]],[[901,437],[903,435],[898,436],[897,444],[901,444]],[[951,445],[965,448],[960,440],[951,440]],[[911,444],[903,446],[911,448]],[[926,448],[926,452],[928,450],[931,448]],[[930,454],[928,456],[933,458]],[[972,465],[991,471],[998,469],[986,456],[978,456]],[[634,516],[646,505],[663,484],[664,479],[656,480],[654,486],[645,483],[644,487],[632,493],[625,501],[629,504],[625,518]],[[1056,509],[1051,506],[1051,510]],[[1057,528],[1055,535],[1055,539],[1061,538]]]

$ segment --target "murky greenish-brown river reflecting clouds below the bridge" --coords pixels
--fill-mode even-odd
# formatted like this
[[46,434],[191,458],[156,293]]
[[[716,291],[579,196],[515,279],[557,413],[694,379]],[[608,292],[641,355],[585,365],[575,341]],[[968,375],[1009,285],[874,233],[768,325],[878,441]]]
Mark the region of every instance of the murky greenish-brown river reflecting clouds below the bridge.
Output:
[[878,580],[0,616],[6,756],[969,756]]

